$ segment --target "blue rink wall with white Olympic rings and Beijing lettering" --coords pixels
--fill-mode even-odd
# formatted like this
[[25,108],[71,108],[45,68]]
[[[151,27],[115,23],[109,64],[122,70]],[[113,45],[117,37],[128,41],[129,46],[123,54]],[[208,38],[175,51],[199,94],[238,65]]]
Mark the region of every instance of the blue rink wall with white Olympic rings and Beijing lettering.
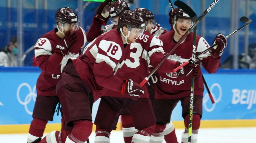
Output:
[[[36,99],[38,67],[0,67],[0,126],[30,124]],[[256,119],[256,70],[218,70],[215,74],[203,71],[212,92],[212,104],[205,90],[202,120],[255,120]],[[94,103],[95,118],[99,100]],[[172,121],[182,121],[180,104],[174,109]],[[49,123],[60,123],[54,116]],[[256,126],[253,122],[252,126]]]

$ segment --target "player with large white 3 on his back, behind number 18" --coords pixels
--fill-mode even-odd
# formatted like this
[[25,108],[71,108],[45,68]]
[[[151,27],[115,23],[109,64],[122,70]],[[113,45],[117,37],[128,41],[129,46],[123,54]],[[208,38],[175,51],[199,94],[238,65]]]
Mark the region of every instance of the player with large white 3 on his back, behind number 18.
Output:
[[[148,74],[148,63],[152,65],[158,64],[164,54],[162,41],[149,33],[154,26],[154,15],[152,12],[143,8],[137,8],[134,11],[140,13],[145,21],[146,31],[135,43],[129,45],[130,55],[127,60],[123,61],[123,66],[116,72],[116,75],[121,79],[131,78],[135,82],[140,82]],[[163,72],[172,71],[178,65],[179,63],[167,60],[159,70]],[[187,71],[191,70],[192,68],[187,68]],[[193,73],[191,72],[191,74]],[[101,97],[95,118],[94,124],[97,125],[95,143],[110,143],[110,132],[116,129],[118,117],[122,114],[122,109],[128,110],[134,123],[133,125],[130,120],[122,120],[123,127],[126,127],[123,128],[125,143],[146,143],[149,141],[154,129],[155,117],[151,101],[148,99],[147,85],[144,85],[142,89],[145,93],[137,101],[132,101],[129,98],[120,98],[120,93],[112,90],[103,90],[103,94],[108,96]],[[134,130],[133,126],[138,131]]]

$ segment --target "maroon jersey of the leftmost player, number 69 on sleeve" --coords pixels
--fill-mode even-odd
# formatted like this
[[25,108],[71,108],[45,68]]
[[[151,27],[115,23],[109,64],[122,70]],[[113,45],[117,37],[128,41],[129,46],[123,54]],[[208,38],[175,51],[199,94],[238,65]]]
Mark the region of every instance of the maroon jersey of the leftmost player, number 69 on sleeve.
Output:
[[55,53],[56,46],[60,42],[57,36],[57,28],[44,34],[35,44],[35,56],[42,70],[36,82],[36,91],[39,95],[56,95],[56,84],[61,78],[61,67],[63,67],[68,58],[77,57],[86,42],[85,31],[79,27],[77,31],[77,42],[72,45],[72,51],[68,55],[62,56]]

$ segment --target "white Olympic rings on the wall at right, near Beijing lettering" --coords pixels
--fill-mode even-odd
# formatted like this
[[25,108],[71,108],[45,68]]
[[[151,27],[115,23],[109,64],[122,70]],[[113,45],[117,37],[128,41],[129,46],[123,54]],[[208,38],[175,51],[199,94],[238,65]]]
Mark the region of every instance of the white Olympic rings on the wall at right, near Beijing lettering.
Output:
[[[215,92],[215,94],[214,94],[214,92],[213,92],[214,87],[216,87],[217,90],[219,91],[218,94],[216,94],[216,90],[214,90],[214,92]],[[209,90],[210,90],[210,92],[212,94],[212,98],[215,101],[215,104],[211,104],[212,105],[211,108],[207,107],[206,103],[210,100],[210,97],[209,97],[209,94],[206,93],[206,94],[204,94],[204,98],[203,98],[203,106],[204,106],[204,109],[206,111],[211,112],[212,110],[214,110],[214,108],[216,106],[216,103],[220,102],[220,100],[221,100],[222,89],[221,89],[221,87],[220,87],[220,85],[218,83],[214,83]],[[216,98],[216,95],[218,95],[218,98]],[[211,100],[210,100],[210,102],[211,102]]]

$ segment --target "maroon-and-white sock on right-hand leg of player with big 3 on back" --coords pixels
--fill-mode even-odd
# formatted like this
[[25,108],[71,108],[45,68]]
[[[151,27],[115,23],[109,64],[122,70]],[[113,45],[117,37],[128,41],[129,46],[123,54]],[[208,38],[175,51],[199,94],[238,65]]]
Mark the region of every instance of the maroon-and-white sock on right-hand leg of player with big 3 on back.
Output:
[[152,126],[149,126],[147,128],[144,128],[142,130],[139,130],[136,132],[132,137],[132,143],[144,143],[149,142],[150,136],[152,132],[155,129],[155,124]]

